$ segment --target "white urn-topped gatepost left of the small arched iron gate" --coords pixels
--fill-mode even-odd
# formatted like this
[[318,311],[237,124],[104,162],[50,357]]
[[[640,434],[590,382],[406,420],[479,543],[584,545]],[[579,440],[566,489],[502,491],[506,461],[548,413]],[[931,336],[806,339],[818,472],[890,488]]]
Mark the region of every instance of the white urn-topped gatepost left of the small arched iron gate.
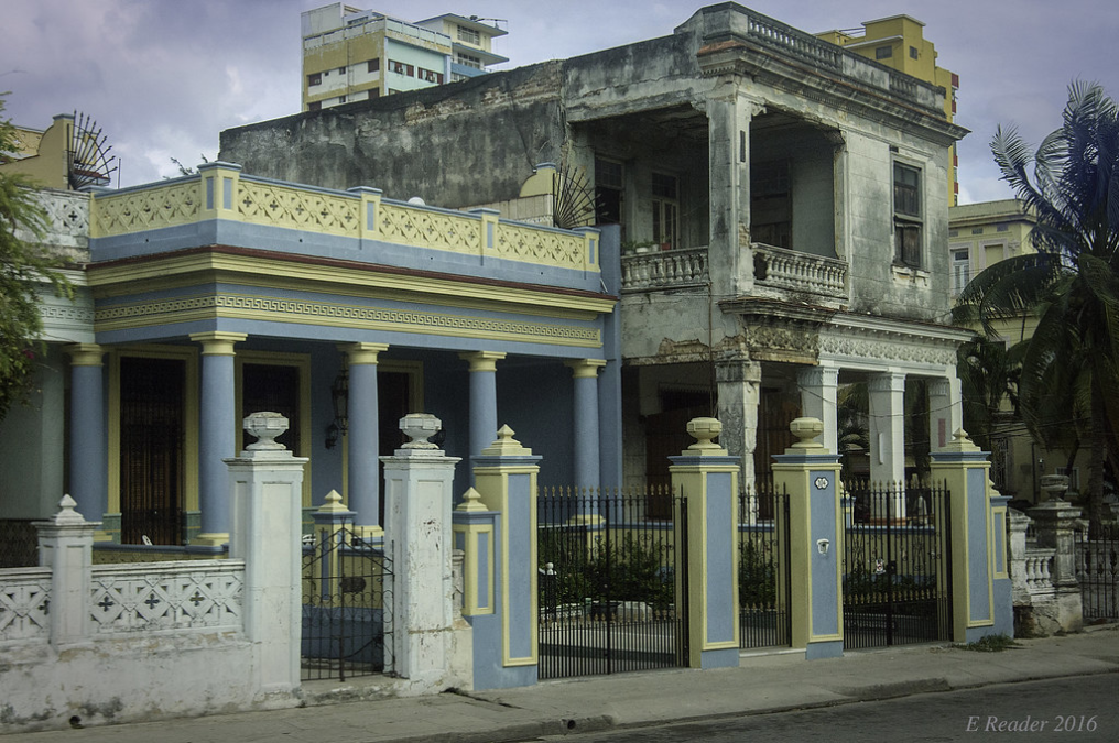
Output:
[[253,645],[254,695],[262,698],[299,688],[300,537],[309,460],[275,442],[288,430],[283,415],[253,413],[244,427],[257,441],[225,460],[233,501],[229,557],[245,561],[242,611]]

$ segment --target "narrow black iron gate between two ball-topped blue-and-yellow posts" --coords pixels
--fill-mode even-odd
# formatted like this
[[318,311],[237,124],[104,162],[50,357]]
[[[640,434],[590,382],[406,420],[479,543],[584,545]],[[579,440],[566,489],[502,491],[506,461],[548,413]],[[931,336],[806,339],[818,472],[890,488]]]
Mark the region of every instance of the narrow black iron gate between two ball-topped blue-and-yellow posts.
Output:
[[739,647],[787,646],[792,592],[789,497],[772,488],[739,496]]

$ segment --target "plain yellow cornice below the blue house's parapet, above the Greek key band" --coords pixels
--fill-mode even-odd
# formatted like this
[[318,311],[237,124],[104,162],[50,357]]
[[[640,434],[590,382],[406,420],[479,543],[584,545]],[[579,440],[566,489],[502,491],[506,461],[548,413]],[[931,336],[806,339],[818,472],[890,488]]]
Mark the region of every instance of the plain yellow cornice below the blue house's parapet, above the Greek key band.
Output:
[[[327,284],[329,289],[320,286],[316,291],[339,297],[432,302],[506,312],[513,311],[510,305],[524,305],[533,308],[536,314],[573,319],[590,319],[603,312],[609,313],[613,311],[615,303],[613,299],[603,297],[571,295],[523,286],[495,286],[376,270],[346,271],[332,265],[210,252],[158,256],[139,264],[123,263],[95,267],[88,272],[88,283],[94,290],[95,299],[191,286],[203,279],[293,291],[305,291],[309,284],[319,283]],[[420,299],[430,297],[439,299]]]

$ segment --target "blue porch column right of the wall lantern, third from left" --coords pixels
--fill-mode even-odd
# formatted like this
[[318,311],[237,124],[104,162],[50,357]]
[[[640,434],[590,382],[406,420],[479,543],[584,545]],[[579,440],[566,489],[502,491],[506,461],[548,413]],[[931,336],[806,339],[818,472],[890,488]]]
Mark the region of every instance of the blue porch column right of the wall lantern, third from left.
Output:
[[349,389],[346,401],[348,432],[347,506],[355,511],[354,530],[369,538],[384,534],[380,527],[380,431],[377,425],[377,355],[386,344],[340,346],[349,359]]

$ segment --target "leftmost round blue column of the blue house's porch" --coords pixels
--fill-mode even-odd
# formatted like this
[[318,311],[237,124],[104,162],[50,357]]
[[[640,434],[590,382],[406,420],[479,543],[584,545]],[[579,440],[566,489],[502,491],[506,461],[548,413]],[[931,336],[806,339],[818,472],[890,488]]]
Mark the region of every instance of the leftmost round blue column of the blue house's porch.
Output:
[[[109,448],[105,430],[105,350],[96,344],[73,344],[70,356],[70,495],[96,517],[109,510]],[[116,538],[120,540],[120,516]]]

